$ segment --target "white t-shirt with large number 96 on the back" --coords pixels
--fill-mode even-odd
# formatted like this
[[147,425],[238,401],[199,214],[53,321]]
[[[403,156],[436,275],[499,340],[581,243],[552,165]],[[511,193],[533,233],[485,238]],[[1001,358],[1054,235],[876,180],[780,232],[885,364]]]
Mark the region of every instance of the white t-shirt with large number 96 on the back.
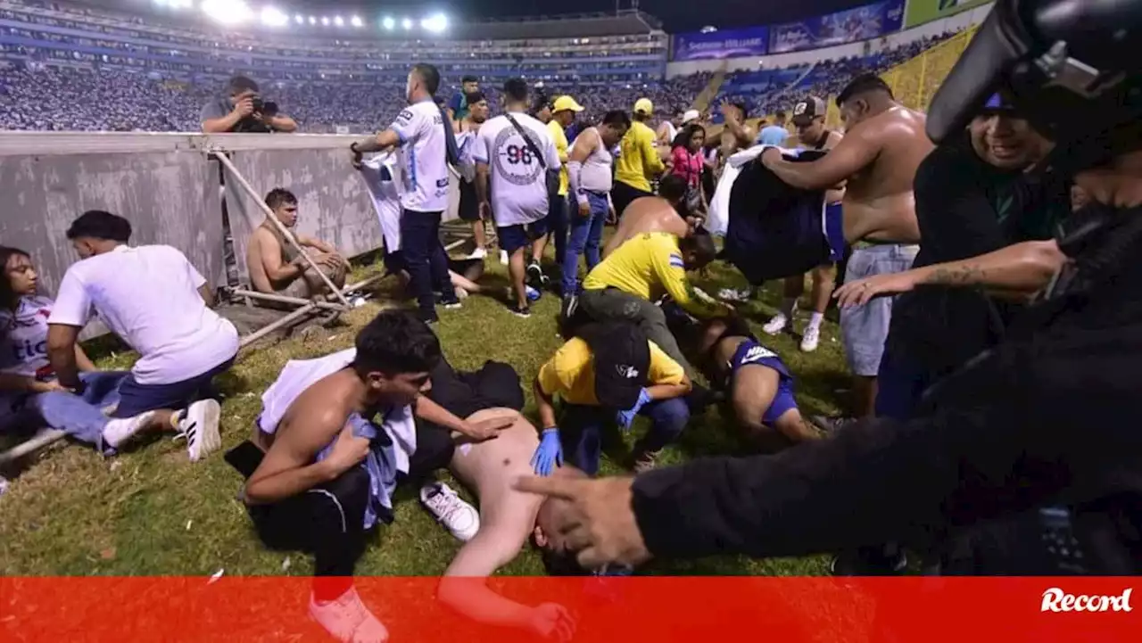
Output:
[[[560,153],[547,126],[524,113],[513,112],[512,116],[544,153],[547,169],[560,169]],[[547,216],[544,166],[507,116],[499,115],[480,126],[472,158],[489,166],[492,216],[497,226],[530,224]]]

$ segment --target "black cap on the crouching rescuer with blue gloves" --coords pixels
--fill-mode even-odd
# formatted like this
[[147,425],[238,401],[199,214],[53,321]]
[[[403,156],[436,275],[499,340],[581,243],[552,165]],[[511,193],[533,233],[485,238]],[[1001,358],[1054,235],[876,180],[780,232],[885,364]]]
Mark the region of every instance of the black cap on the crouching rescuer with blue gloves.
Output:
[[579,331],[595,361],[595,397],[601,407],[626,410],[646,386],[650,343],[632,323],[600,323]]

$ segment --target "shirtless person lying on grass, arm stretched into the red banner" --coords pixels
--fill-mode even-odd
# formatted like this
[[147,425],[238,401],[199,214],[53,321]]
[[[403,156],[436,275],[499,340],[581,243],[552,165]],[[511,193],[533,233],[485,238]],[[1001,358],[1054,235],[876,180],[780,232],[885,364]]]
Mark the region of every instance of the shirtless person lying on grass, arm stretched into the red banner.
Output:
[[[437,598],[448,608],[475,622],[514,627],[548,640],[566,641],[573,621],[555,603],[537,606],[517,603],[496,594],[486,578],[515,560],[529,537],[545,560],[563,547],[563,531],[570,527],[570,506],[560,500],[545,501],[539,496],[512,489],[513,482],[532,474],[529,459],[539,447],[536,427],[520,415],[524,397],[520,376],[508,364],[488,362],[474,372],[456,372],[445,360],[432,370],[432,391],[437,404],[468,421],[505,418],[512,426],[496,440],[463,441],[449,466],[452,474],[480,500],[478,531],[464,538],[465,545],[437,588]],[[561,467],[554,475],[582,477],[573,467]],[[433,503],[428,509],[437,515]],[[453,532],[453,535],[456,535]]]

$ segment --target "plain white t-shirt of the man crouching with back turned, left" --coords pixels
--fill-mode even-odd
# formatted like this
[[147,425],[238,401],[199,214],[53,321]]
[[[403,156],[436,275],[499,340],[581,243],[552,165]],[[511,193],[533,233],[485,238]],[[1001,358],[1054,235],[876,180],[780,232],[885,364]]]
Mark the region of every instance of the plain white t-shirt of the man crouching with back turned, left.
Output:
[[139,352],[136,381],[183,381],[238,353],[238,329],[199,295],[206,282],[170,246],[120,246],[67,268],[48,323],[83,327],[94,312]]

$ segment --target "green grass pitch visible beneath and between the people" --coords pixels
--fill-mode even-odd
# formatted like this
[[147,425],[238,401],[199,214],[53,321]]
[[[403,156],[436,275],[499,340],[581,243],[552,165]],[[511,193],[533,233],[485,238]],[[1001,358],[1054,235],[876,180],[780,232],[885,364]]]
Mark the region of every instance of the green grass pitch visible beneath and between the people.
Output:
[[[483,280],[501,292],[507,281],[501,267]],[[357,275],[379,271],[359,268]],[[735,272],[715,267],[709,292],[742,286]],[[759,324],[775,310],[780,284],[772,284],[761,302],[739,310]],[[384,284],[378,294],[385,299]],[[220,381],[224,449],[244,440],[260,407],[263,391],[289,359],[323,355],[352,345],[356,329],[378,310],[368,304],[345,315],[346,324],[311,329],[304,337],[247,351],[233,371]],[[558,300],[547,296],[533,306],[531,319],[510,315],[499,300],[469,297],[460,311],[443,311],[437,327],[448,359],[457,369],[476,368],[484,360],[513,364],[524,381],[560,345],[555,318]],[[799,330],[804,320],[798,320]],[[769,340],[797,376],[797,399],[806,413],[836,410],[837,391],[846,386],[837,327],[826,321],[820,348],[812,354],[797,349],[797,338]],[[132,355],[102,351],[102,368],[127,368]],[[528,391],[524,412],[534,417]],[[645,421],[645,420],[638,420]],[[636,424],[634,433],[645,429]],[[730,453],[740,448],[731,427],[716,410],[692,420],[679,444],[664,456],[677,463],[699,455]],[[610,461],[604,471],[618,473]],[[447,477],[447,474],[441,474]],[[255,538],[249,520],[235,498],[241,477],[222,452],[191,465],[183,442],[170,439],[105,459],[93,450],[61,443],[39,455],[0,497],[0,573],[15,574],[307,574],[311,562],[301,554],[266,550]],[[455,487],[455,483],[453,483]],[[361,561],[360,574],[439,574],[448,565],[458,542],[440,528],[415,499],[415,490],[401,490],[396,521],[384,528]],[[823,558],[750,561],[735,556],[691,562],[654,563],[648,570],[662,574],[815,574],[825,571]],[[524,550],[505,574],[539,574],[539,557]]]

